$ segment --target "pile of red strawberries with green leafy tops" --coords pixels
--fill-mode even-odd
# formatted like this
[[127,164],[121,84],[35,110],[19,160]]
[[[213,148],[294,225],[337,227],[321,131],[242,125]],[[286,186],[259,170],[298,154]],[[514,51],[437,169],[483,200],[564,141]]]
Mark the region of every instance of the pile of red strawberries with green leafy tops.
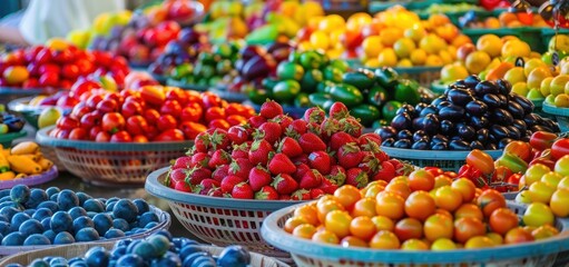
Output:
[[380,149],[379,135],[362,129],[342,102],[332,106],[328,117],[311,108],[293,119],[267,101],[243,126],[199,134],[165,184],[214,197],[310,200],[342,185],[363,188],[410,172],[410,166]]

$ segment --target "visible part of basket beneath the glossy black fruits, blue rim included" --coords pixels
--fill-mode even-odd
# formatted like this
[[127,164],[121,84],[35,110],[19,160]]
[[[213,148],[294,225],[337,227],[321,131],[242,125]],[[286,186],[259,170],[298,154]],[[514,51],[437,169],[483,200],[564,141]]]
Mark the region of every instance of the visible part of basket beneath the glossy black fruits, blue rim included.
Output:
[[[458,171],[470,154],[469,150],[415,150],[392,147],[381,147],[390,157],[410,161],[419,167],[439,167],[443,170]],[[493,159],[502,155],[502,150],[484,150]]]

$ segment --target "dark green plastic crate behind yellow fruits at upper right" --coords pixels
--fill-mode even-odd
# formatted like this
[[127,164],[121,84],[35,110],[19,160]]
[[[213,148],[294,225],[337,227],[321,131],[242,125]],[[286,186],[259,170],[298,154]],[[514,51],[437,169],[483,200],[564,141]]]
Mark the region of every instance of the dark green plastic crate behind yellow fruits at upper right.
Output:
[[541,40],[541,28],[518,27],[499,29],[462,29],[462,33],[470,37],[473,43],[477,43],[478,39],[480,39],[483,34],[496,34],[498,37],[516,36],[520,40],[527,42],[531,47],[531,51],[547,51],[547,46],[543,46]]

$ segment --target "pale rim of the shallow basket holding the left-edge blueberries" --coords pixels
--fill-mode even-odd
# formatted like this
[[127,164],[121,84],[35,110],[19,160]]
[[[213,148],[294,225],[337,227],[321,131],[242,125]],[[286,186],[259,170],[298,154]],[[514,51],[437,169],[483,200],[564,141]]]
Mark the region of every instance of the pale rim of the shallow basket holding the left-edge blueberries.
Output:
[[[115,244],[115,241],[118,241],[120,239],[127,239],[127,238],[130,238],[130,239],[143,239],[143,238],[146,238],[146,237],[148,237],[148,236],[150,236],[154,233],[157,233],[159,230],[163,230],[163,229],[167,230],[170,227],[170,224],[171,224],[170,215],[168,212],[166,212],[166,211],[155,207],[155,206],[150,206],[150,210],[153,210],[156,215],[158,215],[158,218],[160,219],[160,221],[158,222],[157,226],[148,229],[145,233],[139,233],[139,234],[135,234],[135,235],[130,235],[130,236],[125,236],[125,237],[105,239],[105,240],[88,241],[88,243],[77,243],[77,244],[73,244],[73,245],[0,246],[0,256],[14,255],[14,254],[20,254],[20,253],[29,253],[29,251],[38,250],[38,249],[53,249],[53,250],[57,250],[57,249],[60,249],[60,248],[67,248],[68,246],[101,246],[101,245],[105,245],[105,244],[111,244],[112,245],[112,244]],[[62,249],[62,250],[65,250],[65,249]],[[6,259],[3,259],[2,263],[6,263]],[[0,264],[0,266],[4,266],[4,265]]]

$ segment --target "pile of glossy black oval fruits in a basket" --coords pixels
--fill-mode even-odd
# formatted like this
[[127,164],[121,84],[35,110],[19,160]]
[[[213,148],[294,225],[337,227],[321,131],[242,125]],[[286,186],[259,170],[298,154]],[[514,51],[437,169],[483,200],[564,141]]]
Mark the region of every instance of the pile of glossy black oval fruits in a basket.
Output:
[[430,105],[405,105],[391,126],[377,130],[385,147],[421,150],[502,149],[529,140],[534,131],[558,132],[550,119],[532,113],[533,103],[510,92],[506,80],[469,76],[449,86]]

